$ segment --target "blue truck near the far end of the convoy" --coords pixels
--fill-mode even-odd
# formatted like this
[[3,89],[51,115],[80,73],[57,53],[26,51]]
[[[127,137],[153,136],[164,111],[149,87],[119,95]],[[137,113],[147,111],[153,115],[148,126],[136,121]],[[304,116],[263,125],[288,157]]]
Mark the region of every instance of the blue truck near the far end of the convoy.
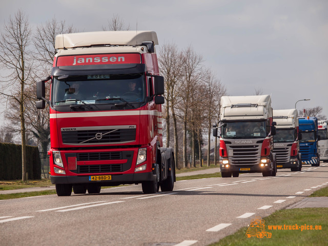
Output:
[[316,117],[300,117],[298,118],[299,132],[302,139],[299,143],[301,152],[302,165],[310,165],[319,167],[320,155],[318,149],[318,119]]

